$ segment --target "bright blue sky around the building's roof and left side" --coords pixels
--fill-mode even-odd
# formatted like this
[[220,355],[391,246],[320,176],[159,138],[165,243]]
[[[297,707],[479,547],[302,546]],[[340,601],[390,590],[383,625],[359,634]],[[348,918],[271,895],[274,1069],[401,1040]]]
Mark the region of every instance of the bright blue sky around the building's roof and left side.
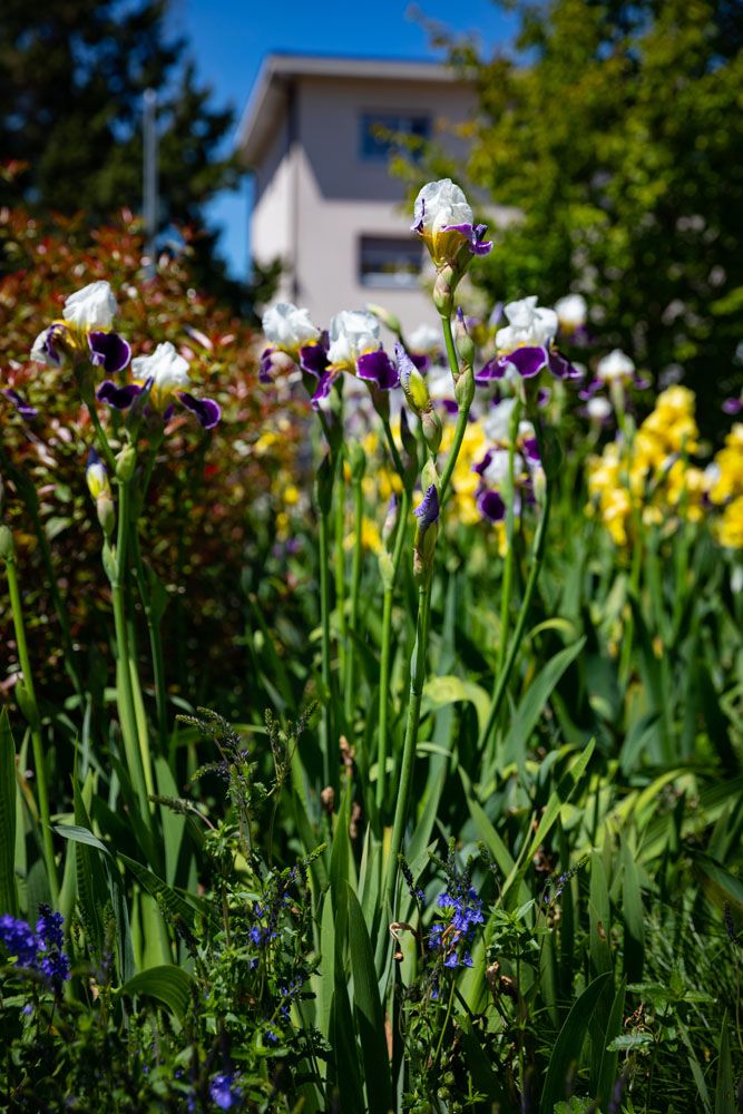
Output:
[[[426,19],[456,33],[476,32],[486,53],[507,41],[514,26],[491,0],[459,0],[456,4],[451,0],[422,0],[419,10]],[[173,30],[188,38],[199,79],[214,90],[214,104],[232,104],[237,119],[261,60],[272,50],[437,57],[407,0],[174,0],[172,12]],[[222,250],[237,277],[247,273],[248,213],[250,179],[239,192],[217,197],[209,209],[211,222],[223,228]]]

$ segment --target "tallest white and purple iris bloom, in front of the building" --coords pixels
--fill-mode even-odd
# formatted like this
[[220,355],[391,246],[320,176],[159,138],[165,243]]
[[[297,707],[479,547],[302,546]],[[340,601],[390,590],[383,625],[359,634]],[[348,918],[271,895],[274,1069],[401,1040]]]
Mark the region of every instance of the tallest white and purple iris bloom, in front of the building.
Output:
[[470,256],[487,255],[492,247],[485,240],[488,226],[473,222],[463,192],[451,178],[441,178],[418,194],[411,231],[422,238],[437,268],[461,267]]

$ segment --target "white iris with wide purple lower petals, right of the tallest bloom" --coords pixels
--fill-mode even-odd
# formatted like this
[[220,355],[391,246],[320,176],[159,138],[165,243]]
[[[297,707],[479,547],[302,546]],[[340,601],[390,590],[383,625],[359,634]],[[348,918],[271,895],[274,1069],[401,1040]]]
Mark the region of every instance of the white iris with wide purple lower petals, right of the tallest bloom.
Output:
[[496,333],[497,354],[475,377],[478,383],[493,379],[532,379],[549,368],[557,379],[579,379],[579,372],[553,346],[557,313],[537,305],[537,295],[509,302],[508,324]]

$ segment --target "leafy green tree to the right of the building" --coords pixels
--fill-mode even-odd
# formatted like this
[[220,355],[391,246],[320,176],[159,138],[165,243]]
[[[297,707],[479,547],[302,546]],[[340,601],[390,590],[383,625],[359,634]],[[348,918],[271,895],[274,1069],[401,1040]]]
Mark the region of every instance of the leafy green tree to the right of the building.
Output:
[[741,383],[743,6],[504,7],[512,55],[449,45],[478,91],[470,183],[522,214],[478,274],[499,299],[584,293],[602,351],[680,365],[714,421]]

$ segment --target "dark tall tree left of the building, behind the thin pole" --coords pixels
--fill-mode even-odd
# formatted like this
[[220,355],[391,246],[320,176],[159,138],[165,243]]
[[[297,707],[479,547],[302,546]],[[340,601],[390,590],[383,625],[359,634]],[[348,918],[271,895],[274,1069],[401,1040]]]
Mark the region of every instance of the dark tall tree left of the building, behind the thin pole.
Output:
[[99,224],[141,208],[143,94],[158,95],[160,225],[189,229],[195,274],[239,293],[215,261],[206,202],[239,172],[222,144],[232,109],[211,106],[186,43],[168,33],[168,0],[25,0],[0,4],[0,150],[26,164],[0,203],[39,215],[85,212]]

